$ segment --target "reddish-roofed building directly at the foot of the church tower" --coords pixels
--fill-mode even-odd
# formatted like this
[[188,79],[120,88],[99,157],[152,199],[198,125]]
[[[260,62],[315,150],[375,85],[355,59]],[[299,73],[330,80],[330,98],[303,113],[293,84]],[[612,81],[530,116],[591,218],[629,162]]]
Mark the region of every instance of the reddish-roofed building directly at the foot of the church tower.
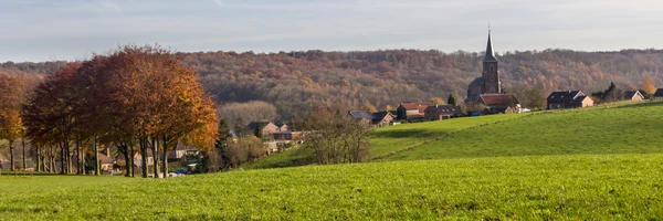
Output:
[[513,94],[480,94],[473,103],[483,107],[482,114],[511,114],[518,113],[518,98]]

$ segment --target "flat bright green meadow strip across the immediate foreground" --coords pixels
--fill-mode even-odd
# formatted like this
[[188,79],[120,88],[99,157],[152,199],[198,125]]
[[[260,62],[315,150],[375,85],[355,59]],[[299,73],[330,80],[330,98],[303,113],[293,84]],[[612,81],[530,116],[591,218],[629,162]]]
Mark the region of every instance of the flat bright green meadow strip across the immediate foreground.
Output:
[[443,159],[168,180],[2,176],[0,220],[661,220],[662,158]]

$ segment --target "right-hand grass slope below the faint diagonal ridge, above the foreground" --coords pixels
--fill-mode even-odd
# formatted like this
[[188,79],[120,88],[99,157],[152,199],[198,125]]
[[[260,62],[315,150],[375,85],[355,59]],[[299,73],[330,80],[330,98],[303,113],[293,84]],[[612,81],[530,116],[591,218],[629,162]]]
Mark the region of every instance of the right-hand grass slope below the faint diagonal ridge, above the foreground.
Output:
[[663,102],[569,109],[455,133],[382,160],[663,152]]

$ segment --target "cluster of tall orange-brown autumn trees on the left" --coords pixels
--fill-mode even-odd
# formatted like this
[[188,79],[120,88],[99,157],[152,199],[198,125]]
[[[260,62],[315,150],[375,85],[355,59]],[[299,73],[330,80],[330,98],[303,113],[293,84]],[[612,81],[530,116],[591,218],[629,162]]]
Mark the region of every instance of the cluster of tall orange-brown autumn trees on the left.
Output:
[[[155,155],[155,177],[159,156],[167,177],[167,152],[178,141],[210,149],[219,133],[215,105],[198,75],[158,46],[124,46],[69,63],[12,108],[20,115],[2,120],[18,125],[17,135],[35,147],[38,170],[50,172],[85,173],[90,165],[99,175],[103,144],[124,155],[126,176],[135,173],[136,152],[148,156],[149,150]],[[147,160],[141,164],[147,177]]]

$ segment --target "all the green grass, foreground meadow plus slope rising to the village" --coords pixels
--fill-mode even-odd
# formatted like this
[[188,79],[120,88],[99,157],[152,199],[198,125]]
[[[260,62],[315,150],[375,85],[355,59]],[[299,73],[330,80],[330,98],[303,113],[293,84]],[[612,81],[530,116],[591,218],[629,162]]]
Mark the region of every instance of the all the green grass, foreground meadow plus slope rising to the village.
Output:
[[[0,177],[0,220],[663,220],[663,102],[379,128],[372,162]],[[245,167],[287,167],[303,149]]]

